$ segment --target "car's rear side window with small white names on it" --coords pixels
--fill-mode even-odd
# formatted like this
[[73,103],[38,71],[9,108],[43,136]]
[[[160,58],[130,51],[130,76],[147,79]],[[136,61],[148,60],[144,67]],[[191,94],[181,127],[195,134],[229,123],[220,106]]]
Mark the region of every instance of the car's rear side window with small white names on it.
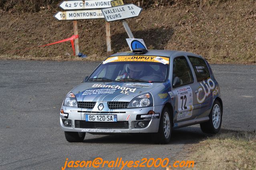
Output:
[[198,79],[198,82],[206,80],[210,77],[210,72],[204,59],[192,56],[188,56],[188,58],[193,65],[193,69],[196,73],[196,79]]

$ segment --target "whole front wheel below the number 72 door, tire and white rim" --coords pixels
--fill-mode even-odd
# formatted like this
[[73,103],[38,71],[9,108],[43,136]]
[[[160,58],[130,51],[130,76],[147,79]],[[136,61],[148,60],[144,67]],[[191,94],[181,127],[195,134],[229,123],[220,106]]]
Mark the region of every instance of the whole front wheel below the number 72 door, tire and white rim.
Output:
[[153,134],[153,141],[155,143],[166,144],[171,139],[171,117],[170,111],[167,107],[163,108],[158,132]]

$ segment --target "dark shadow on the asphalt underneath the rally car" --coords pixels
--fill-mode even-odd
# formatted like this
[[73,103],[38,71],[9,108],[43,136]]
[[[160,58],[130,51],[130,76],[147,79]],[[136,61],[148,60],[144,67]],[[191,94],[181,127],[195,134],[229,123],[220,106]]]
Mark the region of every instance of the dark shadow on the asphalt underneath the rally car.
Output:
[[[207,138],[200,127],[184,127],[173,130],[169,144],[194,144]],[[154,144],[148,134],[91,135],[86,143]]]

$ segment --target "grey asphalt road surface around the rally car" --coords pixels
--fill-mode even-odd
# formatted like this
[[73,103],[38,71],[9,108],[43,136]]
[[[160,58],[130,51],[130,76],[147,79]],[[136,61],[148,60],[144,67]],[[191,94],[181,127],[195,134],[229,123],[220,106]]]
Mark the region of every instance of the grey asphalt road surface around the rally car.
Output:
[[[0,61],[0,169],[61,169],[69,160],[183,158],[206,137],[198,125],[174,130],[166,145],[146,136],[86,134],[69,143],[59,128],[62,100],[99,63]],[[256,129],[256,65],[212,65],[224,103],[222,128]],[[162,168],[163,169],[163,168]]]

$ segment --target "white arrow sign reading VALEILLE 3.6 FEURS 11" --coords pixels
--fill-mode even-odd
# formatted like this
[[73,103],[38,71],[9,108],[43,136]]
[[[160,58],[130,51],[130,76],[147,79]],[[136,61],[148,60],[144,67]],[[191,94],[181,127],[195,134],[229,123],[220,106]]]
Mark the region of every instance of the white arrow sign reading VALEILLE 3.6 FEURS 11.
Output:
[[105,17],[105,20],[107,22],[112,22],[139,16],[139,14],[142,11],[142,8],[134,4],[125,4],[121,6],[101,9],[101,11]]

